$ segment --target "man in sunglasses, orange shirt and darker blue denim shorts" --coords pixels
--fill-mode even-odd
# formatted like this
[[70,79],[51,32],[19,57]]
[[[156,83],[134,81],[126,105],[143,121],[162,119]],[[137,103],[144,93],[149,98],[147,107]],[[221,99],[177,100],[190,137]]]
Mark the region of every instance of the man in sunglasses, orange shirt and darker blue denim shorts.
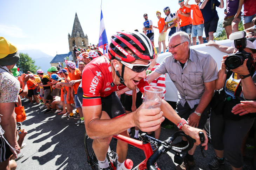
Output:
[[[191,10],[184,6],[184,0],[178,0],[178,4],[181,6],[176,12],[177,21],[181,22],[180,31],[184,31],[189,35],[191,39],[192,19],[190,17]],[[190,40],[191,44],[191,40]]]

